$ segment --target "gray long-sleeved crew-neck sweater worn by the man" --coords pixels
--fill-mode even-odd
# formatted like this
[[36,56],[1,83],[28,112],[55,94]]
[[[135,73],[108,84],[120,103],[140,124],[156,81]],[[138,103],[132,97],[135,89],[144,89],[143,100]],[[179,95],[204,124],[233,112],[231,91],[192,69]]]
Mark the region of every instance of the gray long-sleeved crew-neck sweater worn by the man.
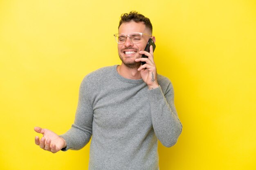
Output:
[[90,140],[90,170],[158,170],[157,139],[173,146],[182,131],[173,102],[173,86],[157,75],[159,87],[148,89],[131,80],[117,65],[83,79],[74,124],[60,135],[63,150],[78,150]]

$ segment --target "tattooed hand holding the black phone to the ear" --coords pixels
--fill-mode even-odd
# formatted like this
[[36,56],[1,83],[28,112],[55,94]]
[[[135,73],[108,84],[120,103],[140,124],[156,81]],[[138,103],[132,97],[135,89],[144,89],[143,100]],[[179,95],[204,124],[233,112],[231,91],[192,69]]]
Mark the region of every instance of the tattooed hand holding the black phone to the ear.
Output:
[[150,52],[140,51],[139,54],[145,54],[148,56],[148,58],[135,59],[136,62],[146,62],[146,64],[141,65],[138,68],[138,71],[140,71],[141,74],[141,78],[148,85],[149,89],[157,88],[159,85],[157,83],[157,69],[154,62],[153,46],[150,46]]

